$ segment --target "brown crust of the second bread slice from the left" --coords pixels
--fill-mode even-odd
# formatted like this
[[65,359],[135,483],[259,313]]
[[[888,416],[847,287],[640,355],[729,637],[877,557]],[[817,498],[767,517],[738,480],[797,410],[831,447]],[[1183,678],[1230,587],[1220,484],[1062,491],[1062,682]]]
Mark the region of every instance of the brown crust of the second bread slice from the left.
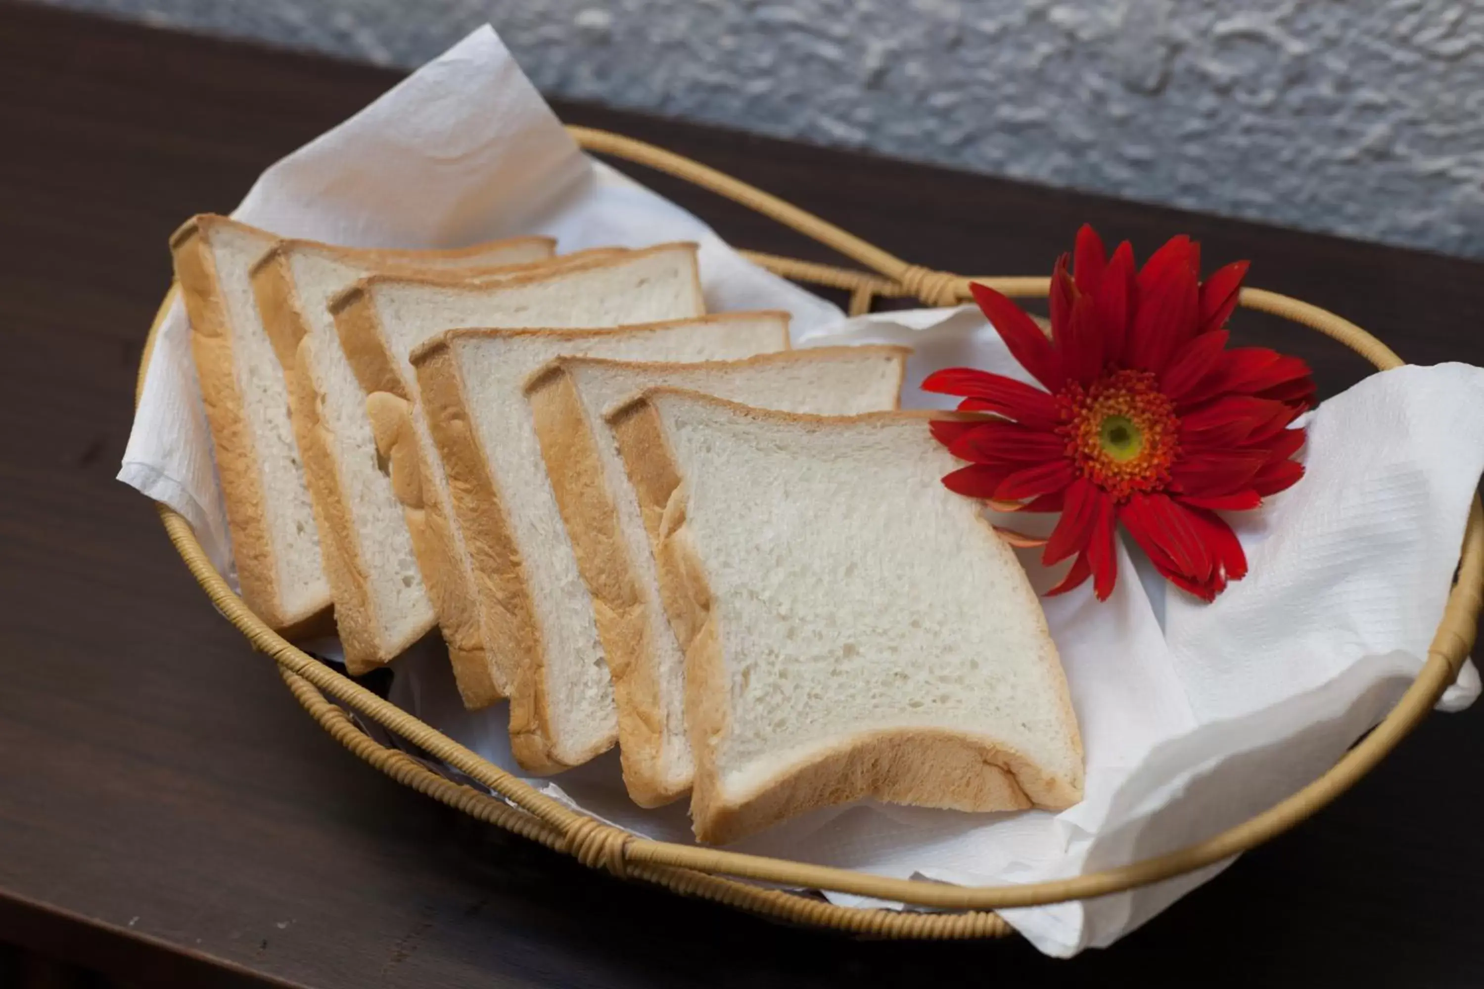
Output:
[[[390,663],[432,629],[433,621],[413,626],[396,639],[383,639],[380,635],[383,623],[371,595],[367,558],[350,516],[340,461],[334,455],[326,426],[321,417],[324,388],[315,377],[309,322],[294,285],[291,252],[313,251],[322,257],[352,264],[417,271],[421,270],[417,267],[420,261],[426,262],[433,258],[478,258],[491,251],[506,251],[512,246],[551,251],[554,245],[551,237],[515,237],[451,251],[393,251],[338,248],[315,240],[280,240],[252,265],[251,279],[258,313],[288,384],[289,423],[304,463],[304,479],[315,512],[315,525],[319,529],[322,563],[335,603],[335,624],[344,649],[346,669],[352,675],[367,673],[377,666]],[[484,270],[488,270],[488,265]],[[416,457],[414,446],[407,449]],[[401,474],[404,477],[411,474],[416,482],[416,467],[411,472],[404,467]],[[396,479],[398,473],[393,472],[393,485]]]

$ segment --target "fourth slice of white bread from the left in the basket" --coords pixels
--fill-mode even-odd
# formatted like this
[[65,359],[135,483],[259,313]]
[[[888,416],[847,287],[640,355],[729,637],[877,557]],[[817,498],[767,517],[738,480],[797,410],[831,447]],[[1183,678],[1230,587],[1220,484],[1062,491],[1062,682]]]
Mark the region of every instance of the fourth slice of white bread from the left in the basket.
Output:
[[413,353],[473,559],[485,649],[509,684],[510,749],[527,770],[580,765],[617,738],[613,681],[527,380],[562,354],[730,360],[787,345],[787,313],[729,313],[597,331],[453,331]]

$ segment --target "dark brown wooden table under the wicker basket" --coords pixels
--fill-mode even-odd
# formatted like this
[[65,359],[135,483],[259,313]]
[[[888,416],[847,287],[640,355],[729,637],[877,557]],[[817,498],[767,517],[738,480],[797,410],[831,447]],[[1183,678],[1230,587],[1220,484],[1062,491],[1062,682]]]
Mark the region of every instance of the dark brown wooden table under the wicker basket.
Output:
[[[113,476],[165,239],[395,73],[0,6],[0,985],[1484,985],[1484,722],[1434,716],[1352,793],[1109,952],[853,942],[620,884],[355,761]],[[1484,265],[594,107],[923,264],[1042,273],[1083,219],[1484,363]],[[733,243],[830,259],[651,179]],[[1220,175],[1211,176],[1220,182]],[[1380,206],[1379,206],[1380,208]],[[1325,393],[1364,366],[1309,357]],[[93,974],[83,974],[83,973]]]

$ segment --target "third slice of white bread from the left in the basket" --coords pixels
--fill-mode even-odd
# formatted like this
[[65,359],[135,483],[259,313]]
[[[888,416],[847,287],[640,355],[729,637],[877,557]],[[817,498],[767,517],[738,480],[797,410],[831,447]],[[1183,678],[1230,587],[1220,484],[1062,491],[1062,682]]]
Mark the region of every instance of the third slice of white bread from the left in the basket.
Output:
[[470,709],[509,692],[485,655],[475,575],[450,506],[448,479],[417,403],[414,347],[459,326],[610,326],[705,311],[695,245],[591,251],[496,283],[372,276],[331,301],[335,329],[367,396],[377,451],[392,477]]

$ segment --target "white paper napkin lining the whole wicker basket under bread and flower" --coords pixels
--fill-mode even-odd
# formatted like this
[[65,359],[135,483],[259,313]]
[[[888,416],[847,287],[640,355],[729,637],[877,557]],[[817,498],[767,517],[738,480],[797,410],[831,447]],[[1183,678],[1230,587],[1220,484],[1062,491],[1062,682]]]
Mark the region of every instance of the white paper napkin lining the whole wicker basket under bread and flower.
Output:
[[[365,246],[518,233],[552,234],[561,251],[696,240],[714,310],[787,308],[798,345],[913,345],[908,405],[945,403],[916,388],[942,366],[1025,378],[974,310],[844,320],[748,264],[695,216],[583,156],[490,28],[272,166],[233,215],[283,236]],[[230,575],[187,332],[177,305],[150,357],[119,476],[181,512]],[[1379,374],[1324,403],[1309,429],[1307,477],[1263,512],[1235,517],[1252,572],[1214,605],[1168,590],[1126,547],[1107,602],[1089,586],[1045,601],[1086,747],[1079,805],[957,814],[865,802],[738,848],[889,876],[1033,882],[1178,848],[1316,777],[1385,716],[1426,657],[1484,469],[1484,371]],[[1021,559],[1039,589],[1060,577],[1034,553]],[[436,649],[410,652],[393,670],[393,701],[521,774],[505,706],[463,710]],[[1448,701],[1465,706],[1477,694],[1469,666]],[[628,801],[614,753],[531,783],[637,833],[690,841],[683,805],[643,811]],[[1006,918],[1042,950],[1071,955],[1114,942],[1220,867]]]

